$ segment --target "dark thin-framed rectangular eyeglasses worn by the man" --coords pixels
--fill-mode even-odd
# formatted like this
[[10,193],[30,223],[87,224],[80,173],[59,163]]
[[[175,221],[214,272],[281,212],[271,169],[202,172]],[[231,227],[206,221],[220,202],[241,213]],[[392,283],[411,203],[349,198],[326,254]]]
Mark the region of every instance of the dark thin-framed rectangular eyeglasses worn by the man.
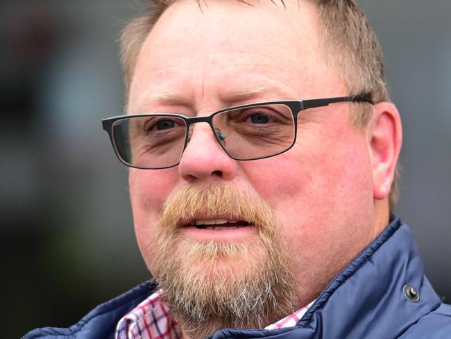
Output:
[[178,165],[193,131],[207,122],[222,149],[235,160],[277,156],[293,147],[298,113],[345,101],[367,101],[370,94],[301,101],[269,101],[224,108],[205,117],[155,113],[102,120],[117,157],[127,166],[163,169]]

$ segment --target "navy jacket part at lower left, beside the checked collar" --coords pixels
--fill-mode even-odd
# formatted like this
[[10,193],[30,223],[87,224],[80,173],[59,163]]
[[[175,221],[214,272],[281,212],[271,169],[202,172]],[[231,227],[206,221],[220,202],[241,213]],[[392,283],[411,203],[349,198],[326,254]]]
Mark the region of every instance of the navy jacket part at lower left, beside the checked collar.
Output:
[[68,328],[44,327],[35,329],[23,339],[57,339],[57,338],[114,338],[117,322],[131,311],[139,302],[151,295],[155,284],[150,281],[128,290],[119,297],[96,306],[77,324]]

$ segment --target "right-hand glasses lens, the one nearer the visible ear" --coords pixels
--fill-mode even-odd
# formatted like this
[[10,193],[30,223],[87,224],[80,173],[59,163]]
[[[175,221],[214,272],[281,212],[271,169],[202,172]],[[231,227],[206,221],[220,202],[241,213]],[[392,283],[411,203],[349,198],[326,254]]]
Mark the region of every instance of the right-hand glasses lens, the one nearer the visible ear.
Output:
[[274,156],[294,142],[293,114],[285,105],[228,110],[214,115],[216,138],[235,159]]

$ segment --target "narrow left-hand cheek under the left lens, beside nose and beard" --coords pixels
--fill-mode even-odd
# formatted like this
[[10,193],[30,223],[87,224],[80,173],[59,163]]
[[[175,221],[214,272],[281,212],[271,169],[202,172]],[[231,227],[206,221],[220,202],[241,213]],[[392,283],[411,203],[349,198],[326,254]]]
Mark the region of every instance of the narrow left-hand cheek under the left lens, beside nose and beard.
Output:
[[176,167],[158,171],[130,168],[128,184],[133,221],[139,249],[149,268],[152,267],[155,224],[163,202],[177,181]]

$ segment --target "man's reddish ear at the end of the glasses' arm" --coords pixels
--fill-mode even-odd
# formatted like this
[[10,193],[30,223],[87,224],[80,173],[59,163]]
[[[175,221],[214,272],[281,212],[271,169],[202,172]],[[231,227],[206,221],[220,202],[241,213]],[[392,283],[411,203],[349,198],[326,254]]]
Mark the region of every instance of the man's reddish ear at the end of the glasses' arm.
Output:
[[398,109],[391,102],[375,104],[369,130],[373,163],[373,197],[389,197],[396,163],[402,145],[402,126]]

